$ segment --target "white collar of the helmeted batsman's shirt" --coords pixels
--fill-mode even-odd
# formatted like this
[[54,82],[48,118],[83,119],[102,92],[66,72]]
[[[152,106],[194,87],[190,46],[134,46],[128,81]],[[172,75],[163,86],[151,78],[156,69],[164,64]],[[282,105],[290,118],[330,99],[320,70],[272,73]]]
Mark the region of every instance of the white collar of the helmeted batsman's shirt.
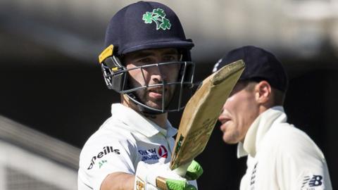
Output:
[[152,137],[158,133],[163,134],[165,137],[173,137],[177,133],[177,129],[168,120],[165,124],[167,129],[163,129],[156,125],[155,122],[145,118],[132,108],[123,106],[121,103],[113,103],[111,105],[111,114],[112,118],[124,122],[131,130],[144,134],[146,137]]

